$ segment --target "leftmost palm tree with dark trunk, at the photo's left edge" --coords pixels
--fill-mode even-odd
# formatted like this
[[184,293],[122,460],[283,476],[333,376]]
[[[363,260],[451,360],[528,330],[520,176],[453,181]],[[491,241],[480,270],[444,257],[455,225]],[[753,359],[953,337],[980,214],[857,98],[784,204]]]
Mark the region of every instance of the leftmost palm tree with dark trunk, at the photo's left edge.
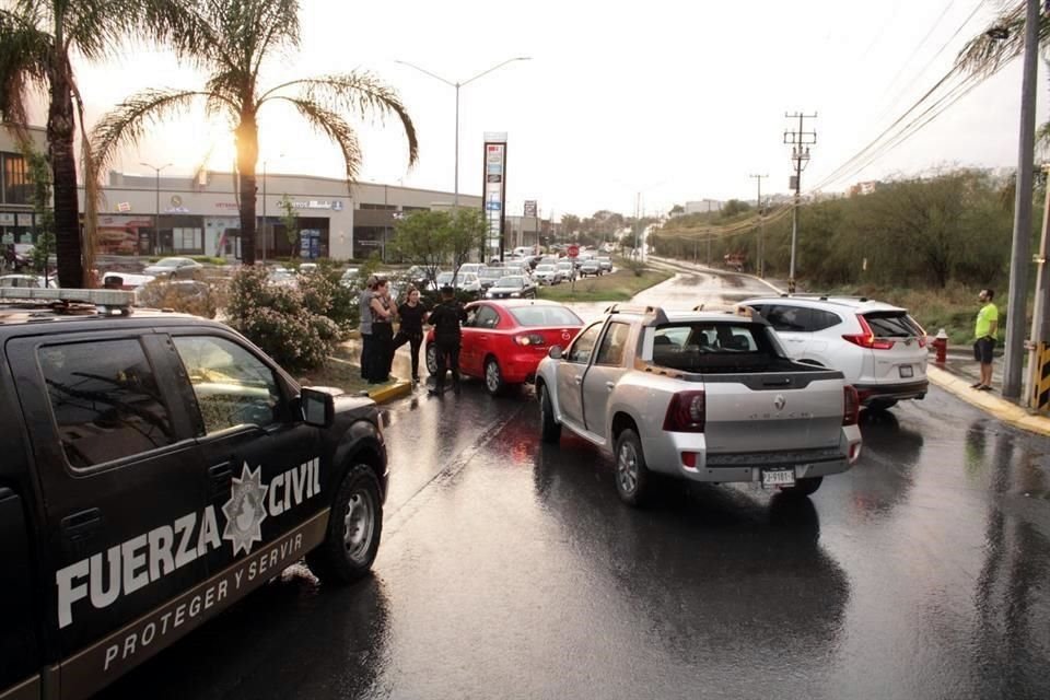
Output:
[[[177,0],[12,0],[5,5],[0,8],[0,117],[27,142],[27,107],[37,94],[47,96],[58,279],[62,287],[83,287],[91,250],[80,233],[75,140],[78,129],[84,131],[84,101],[72,59],[110,56],[132,33],[167,38],[182,26]],[[95,178],[86,148],[82,154],[90,225]]]

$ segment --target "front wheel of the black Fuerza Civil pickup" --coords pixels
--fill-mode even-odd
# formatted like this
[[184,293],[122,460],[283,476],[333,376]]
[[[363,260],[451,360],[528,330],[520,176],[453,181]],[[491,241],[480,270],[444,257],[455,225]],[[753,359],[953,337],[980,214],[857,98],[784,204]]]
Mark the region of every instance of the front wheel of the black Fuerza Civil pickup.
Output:
[[371,467],[359,464],[339,485],[325,541],[306,555],[306,563],[326,583],[353,583],[372,568],[382,532],[380,482]]

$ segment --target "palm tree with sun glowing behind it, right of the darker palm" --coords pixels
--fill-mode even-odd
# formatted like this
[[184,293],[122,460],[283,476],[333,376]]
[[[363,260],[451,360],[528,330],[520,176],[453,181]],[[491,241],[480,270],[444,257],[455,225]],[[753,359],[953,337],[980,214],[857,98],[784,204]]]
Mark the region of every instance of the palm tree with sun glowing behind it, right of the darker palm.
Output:
[[256,164],[259,156],[259,110],[268,104],[291,104],[316,130],[331,139],[346,163],[347,184],[361,166],[361,147],[345,113],[362,117],[395,115],[408,138],[409,165],[418,154],[416,128],[397,93],[369,72],[332,73],[262,89],[259,74],[267,59],[300,45],[298,0],[184,0],[191,16],[192,42],[175,46],[179,56],[208,73],[200,90],[145,90],[105,115],[92,131],[98,170],[118,148],[136,143],[147,127],[203,101],[209,116],[224,115],[233,129],[240,177],[241,254],[255,264]]

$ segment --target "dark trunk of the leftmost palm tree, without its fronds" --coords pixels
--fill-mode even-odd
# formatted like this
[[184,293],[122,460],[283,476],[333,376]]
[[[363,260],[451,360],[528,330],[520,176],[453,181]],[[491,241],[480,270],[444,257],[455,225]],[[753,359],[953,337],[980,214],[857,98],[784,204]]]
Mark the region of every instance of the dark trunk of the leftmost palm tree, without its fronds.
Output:
[[84,287],[83,244],[77,195],[77,155],[73,100],[61,56],[51,66],[50,107],[47,114],[47,151],[55,177],[55,255],[58,283],[66,289]]

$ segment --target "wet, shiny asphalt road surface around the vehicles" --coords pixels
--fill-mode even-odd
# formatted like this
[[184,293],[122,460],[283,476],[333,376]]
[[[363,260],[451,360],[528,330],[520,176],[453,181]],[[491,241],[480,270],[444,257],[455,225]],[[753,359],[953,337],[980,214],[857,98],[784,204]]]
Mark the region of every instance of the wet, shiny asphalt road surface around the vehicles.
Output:
[[669,482],[634,511],[532,399],[390,405],[374,578],[293,568],[104,697],[1050,697],[1046,438],[933,388],[808,500]]

